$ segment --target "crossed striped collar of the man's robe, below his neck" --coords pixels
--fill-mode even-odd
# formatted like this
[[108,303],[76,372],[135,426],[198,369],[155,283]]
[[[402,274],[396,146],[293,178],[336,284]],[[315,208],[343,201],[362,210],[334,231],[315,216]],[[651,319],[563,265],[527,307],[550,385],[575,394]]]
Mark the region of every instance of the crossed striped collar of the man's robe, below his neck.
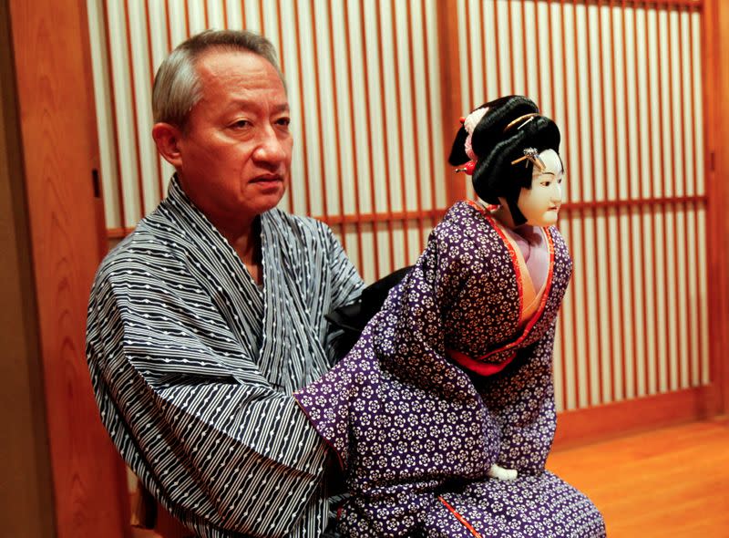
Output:
[[[182,191],[175,176],[162,204],[177,220],[175,233],[190,233],[194,249],[180,253],[191,270],[200,256],[215,267],[200,275],[217,310],[231,329],[242,353],[250,357],[272,386],[293,392],[319,378],[329,368],[316,330],[308,319],[310,305],[303,304],[302,291],[292,272],[295,262],[284,259],[292,245],[292,229],[283,213],[272,209],[261,218],[263,287],[251,278],[230,243]],[[310,328],[306,328],[310,327]]]

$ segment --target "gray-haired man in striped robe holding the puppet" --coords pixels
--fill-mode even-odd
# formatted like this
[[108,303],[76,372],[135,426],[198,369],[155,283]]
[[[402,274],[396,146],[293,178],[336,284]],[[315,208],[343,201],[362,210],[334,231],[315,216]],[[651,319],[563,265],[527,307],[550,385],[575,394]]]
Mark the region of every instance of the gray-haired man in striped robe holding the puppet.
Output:
[[87,360],[101,417],[201,537],[319,536],[326,447],[292,393],[334,362],[323,315],[362,281],[321,222],[276,209],[289,105],[272,45],[207,31],[155,79],[169,193],[101,264]]

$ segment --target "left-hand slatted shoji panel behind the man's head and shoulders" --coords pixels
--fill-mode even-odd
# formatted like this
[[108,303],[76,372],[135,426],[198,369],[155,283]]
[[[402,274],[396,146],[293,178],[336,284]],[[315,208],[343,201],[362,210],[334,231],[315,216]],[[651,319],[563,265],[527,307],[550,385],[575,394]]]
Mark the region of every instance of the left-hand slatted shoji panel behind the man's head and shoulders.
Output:
[[150,92],[172,47],[248,28],[279,51],[293,110],[282,206],[329,222],[365,280],[412,264],[446,207],[436,0],[88,0],[109,234],[163,195]]

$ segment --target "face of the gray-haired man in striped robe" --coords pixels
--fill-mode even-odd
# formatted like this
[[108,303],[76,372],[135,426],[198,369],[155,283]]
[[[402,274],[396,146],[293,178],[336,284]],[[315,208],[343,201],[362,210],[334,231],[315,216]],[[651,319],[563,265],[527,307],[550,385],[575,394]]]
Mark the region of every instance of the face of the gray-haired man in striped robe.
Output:
[[211,50],[196,66],[202,98],[180,132],[180,183],[216,225],[247,225],[281,201],[290,180],[286,91],[250,52]]

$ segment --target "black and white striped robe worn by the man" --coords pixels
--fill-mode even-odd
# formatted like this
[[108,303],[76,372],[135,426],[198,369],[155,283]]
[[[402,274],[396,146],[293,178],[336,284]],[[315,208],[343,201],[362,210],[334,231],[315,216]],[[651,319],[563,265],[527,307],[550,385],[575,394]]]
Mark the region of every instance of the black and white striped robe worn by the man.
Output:
[[321,222],[261,215],[263,286],[173,179],[101,264],[87,360],[129,467],[204,538],[318,536],[326,448],[292,393],[333,363],[362,281]]

